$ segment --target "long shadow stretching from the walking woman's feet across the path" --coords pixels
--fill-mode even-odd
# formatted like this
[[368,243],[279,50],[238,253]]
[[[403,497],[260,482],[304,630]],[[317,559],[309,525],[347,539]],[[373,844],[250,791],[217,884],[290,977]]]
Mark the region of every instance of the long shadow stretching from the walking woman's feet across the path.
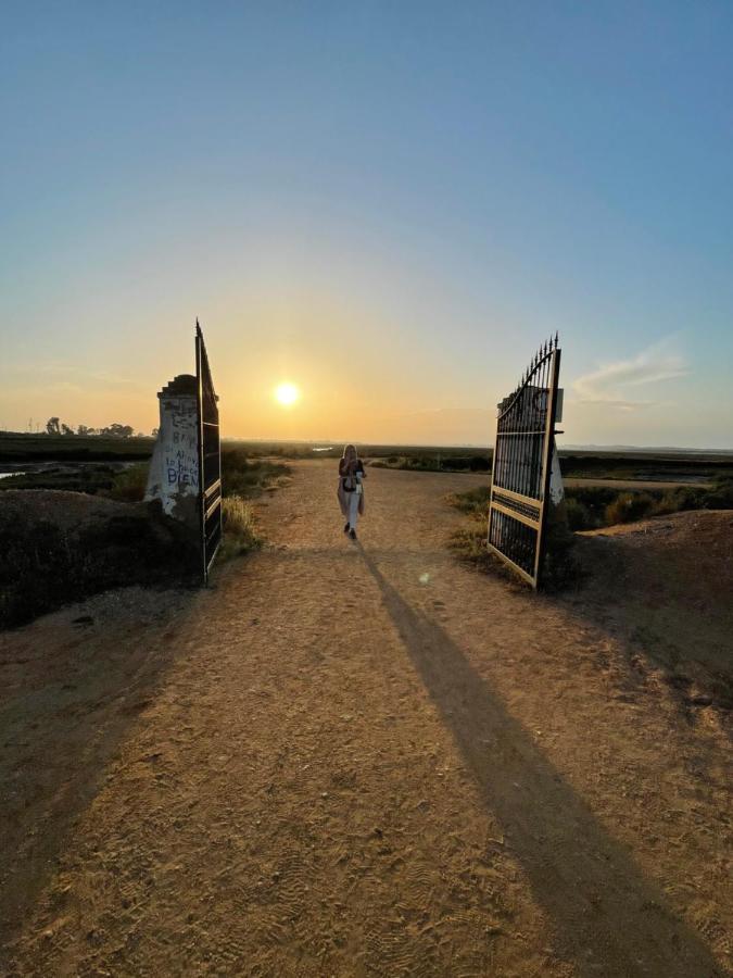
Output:
[[598,824],[460,649],[359,550],[486,808],[503,824],[552,919],[558,950],[574,960],[578,974],[722,975],[708,946]]

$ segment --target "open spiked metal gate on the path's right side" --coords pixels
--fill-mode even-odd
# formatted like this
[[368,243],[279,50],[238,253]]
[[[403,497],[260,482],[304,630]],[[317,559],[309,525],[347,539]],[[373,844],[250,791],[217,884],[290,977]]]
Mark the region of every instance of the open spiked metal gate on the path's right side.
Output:
[[488,547],[533,588],[542,576],[559,373],[556,334],[501,402],[496,422]]

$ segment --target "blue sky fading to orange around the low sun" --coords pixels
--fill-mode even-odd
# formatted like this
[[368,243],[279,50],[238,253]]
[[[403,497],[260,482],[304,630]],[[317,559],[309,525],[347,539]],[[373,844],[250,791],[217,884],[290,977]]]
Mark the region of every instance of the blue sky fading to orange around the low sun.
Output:
[[[733,449],[733,4],[4,2],[0,427]],[[278,404],[278,384],[299,400]]]

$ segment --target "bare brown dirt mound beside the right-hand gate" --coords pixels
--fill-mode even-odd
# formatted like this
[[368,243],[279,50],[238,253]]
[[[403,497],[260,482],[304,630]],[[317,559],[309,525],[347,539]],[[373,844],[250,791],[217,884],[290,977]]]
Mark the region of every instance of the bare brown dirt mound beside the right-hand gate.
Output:
[[733,513],[696,511],[578,534],[569,600],[631,641],[693,705],[733,706]]

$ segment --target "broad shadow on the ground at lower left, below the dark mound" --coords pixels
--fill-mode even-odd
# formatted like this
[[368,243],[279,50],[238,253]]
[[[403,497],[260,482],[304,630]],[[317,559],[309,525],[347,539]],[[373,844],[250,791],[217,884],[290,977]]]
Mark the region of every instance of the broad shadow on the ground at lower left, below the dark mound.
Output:
[[121,641],[122,626],[108,635],[91,618],[88,631],[77,639],[64,631],[53,649],[39,647],[30,631],[22,659],[13,659],[13,650],[24,645],[0,641],[0,675],[33,670],[0,701],[2,974],[13,941],[59,868],[75,824],[176,659],[198,594],[175,593],[173,606],[160,614],[154,595],[148,598],[150,607],[130,613],[125,627],[137,628],[137,641],[135,636]]

